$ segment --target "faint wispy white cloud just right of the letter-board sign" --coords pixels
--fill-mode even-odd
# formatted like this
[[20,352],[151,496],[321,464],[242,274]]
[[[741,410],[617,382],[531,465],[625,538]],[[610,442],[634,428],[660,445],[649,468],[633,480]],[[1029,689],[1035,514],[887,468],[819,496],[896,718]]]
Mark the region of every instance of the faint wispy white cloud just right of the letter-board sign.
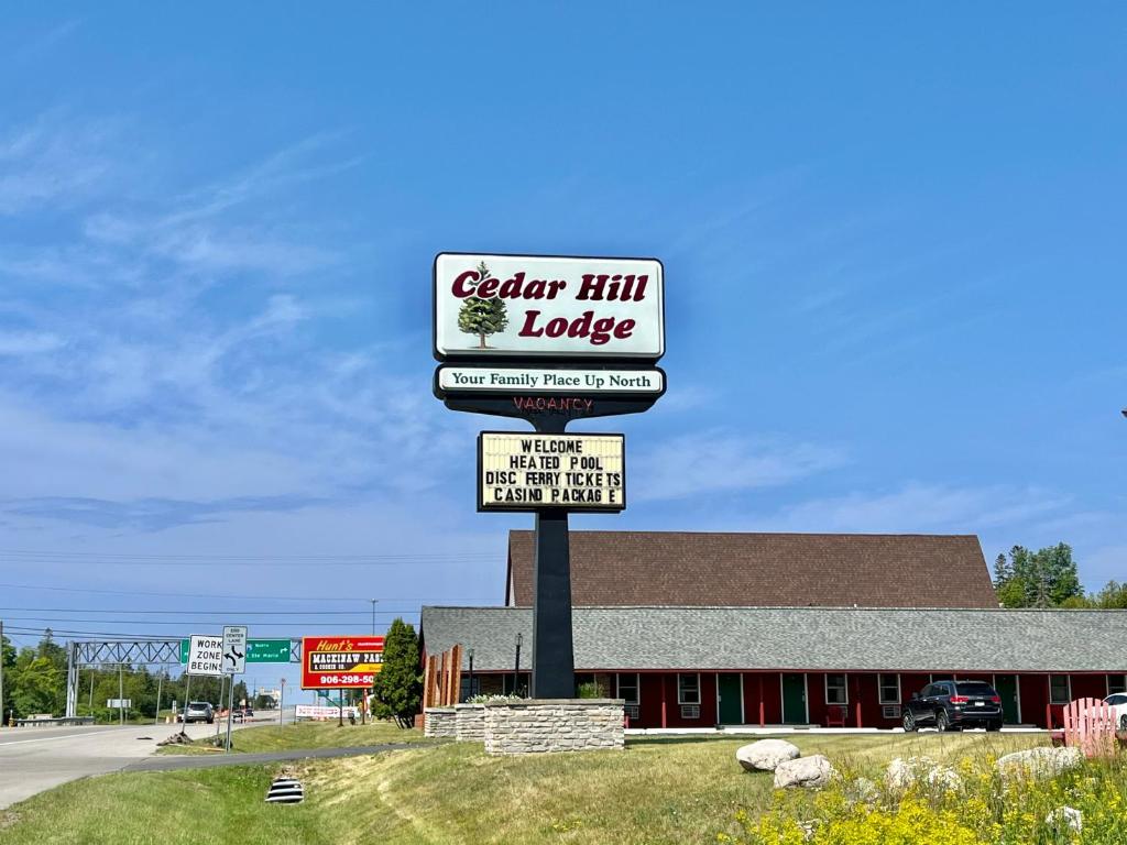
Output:
[[635,500],[681,499],[788,484],[844,462],[837,448],[713,429],[645,451],[628,483]]

